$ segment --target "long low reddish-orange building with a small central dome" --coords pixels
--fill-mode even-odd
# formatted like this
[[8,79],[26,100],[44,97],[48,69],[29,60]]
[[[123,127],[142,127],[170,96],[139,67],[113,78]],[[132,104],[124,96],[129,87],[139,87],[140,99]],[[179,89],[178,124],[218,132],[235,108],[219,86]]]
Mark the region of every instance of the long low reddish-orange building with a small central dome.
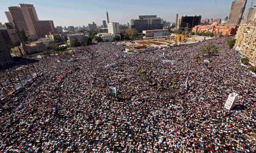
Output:
[[[215,22],[216,23],[216,22]],[[211,32],[211,33],[221,33],[222,35],[235,35],[236,31],[238,29],[237,25],[230,25],[230,26],[218,26],[216,23],[215,25],[206,25],[206,26],[195,26],[192,29],[192,32],[197,33],[197,32]]]

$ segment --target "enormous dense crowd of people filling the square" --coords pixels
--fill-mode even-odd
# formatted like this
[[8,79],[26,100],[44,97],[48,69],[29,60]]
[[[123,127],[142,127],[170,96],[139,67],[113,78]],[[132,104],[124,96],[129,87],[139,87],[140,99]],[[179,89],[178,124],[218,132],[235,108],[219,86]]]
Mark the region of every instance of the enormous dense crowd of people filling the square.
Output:
[[[0,153],[256,152],[256,78],[228,39],[134,54],[98,43],[37,59],[38,77],[1,102]],[[210,57],[200,50],[209,43]]]

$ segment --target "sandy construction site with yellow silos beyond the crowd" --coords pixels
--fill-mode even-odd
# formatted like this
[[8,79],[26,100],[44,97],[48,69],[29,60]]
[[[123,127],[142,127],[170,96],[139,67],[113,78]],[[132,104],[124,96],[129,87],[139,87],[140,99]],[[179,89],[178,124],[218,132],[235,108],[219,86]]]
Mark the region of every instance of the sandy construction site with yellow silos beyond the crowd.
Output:
[[167,37],[155,37],[155,38],[146,38],[130,41],[120,41],[117,45],[124,45],[132,50],[146,49],[151,47],[164,48],[172,47],[179,45],[186,45],[191,43],[198,43],[200,41],[213,39],[213,37],[192,35],[190,37],[185,37],[182,34],[172,34]]

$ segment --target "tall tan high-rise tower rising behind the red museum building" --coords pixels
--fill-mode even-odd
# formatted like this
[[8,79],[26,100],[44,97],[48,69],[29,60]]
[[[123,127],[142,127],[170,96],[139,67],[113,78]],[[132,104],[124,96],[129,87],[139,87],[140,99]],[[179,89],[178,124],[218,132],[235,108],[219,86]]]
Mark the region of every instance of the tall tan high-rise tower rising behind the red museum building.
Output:
[[247,0],[235,0],[232,2],[226,25],[237,25],[241,23],[246,2]]

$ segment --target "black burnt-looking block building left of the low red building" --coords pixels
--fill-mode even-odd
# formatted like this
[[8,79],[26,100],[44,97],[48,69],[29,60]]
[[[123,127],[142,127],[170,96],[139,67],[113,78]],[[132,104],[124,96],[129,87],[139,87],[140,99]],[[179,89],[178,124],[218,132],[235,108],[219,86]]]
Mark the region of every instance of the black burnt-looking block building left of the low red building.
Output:
[[201,16],[181,16],[178,22],[178,29],[184,30],[187,26],[188,29],[200,25]]

